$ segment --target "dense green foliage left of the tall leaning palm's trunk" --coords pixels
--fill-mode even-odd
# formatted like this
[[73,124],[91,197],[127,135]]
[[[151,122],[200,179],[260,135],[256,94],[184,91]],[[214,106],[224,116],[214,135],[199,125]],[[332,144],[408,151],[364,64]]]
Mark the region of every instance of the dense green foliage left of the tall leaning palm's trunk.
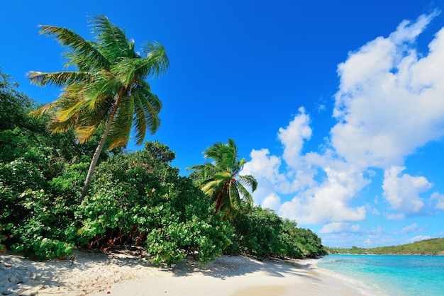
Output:
[[1,71],[0,81],[0,118],[14,120],[0,129],[0,243],[35,258],[66,257],[72,244],[65,227],[78,200],[58,195],[57,180],[70,166],[82,168],[94,148],[79,145],[72,132],[50,136],[48,118],[28,116],[35,103]]

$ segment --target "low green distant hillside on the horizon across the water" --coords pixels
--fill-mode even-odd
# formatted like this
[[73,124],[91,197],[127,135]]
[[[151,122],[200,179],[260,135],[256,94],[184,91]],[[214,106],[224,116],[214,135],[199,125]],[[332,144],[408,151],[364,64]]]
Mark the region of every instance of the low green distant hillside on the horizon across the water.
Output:
[[374,254],[374,255],[441,255],[444,256],[444,238],[425,239],[412,244],[400,246],[379,246],[363,249],[352,246],[352,249],[326,247],[329,254]]

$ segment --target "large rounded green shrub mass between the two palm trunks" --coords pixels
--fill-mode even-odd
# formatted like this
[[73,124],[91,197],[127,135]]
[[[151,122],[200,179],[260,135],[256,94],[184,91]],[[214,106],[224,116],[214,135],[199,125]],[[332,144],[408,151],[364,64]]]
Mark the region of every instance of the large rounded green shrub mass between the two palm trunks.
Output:
[[220,256],[233,233],[209,198],[169,164],[166,145],[147,142],[139,152],[118,154],[96,170],[90,196],[75,212],[82,221],[77,243],[89,248],[136,244],[153,263],[171,265],[198,254],[201,262]]

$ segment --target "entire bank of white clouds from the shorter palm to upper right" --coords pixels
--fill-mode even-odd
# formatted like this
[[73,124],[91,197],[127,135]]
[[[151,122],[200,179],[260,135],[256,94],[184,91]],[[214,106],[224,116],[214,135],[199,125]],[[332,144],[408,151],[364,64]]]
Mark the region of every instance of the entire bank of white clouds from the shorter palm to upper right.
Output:
[[[403,171],[406,156],[444,135],[444,28],[427,55],[415,49],[416,38],[436,15],[401,22],[388,37],[367,42],[338,65],[337,122],[320,151],[304,149],[316,122],[303,107],[277,132],[282,154],[252,150],[242,173],[257,178],[256,204],[299,224],[325,224],[325,234],[353,230],[350,222],[365,220],[367,211],[384,212],[389,220],[426,212],[421,194],[432,184]],[[372,182],[387,203],[371,201],[375,195],[357,202]],[[444,210],[443,195],[432,200]]]

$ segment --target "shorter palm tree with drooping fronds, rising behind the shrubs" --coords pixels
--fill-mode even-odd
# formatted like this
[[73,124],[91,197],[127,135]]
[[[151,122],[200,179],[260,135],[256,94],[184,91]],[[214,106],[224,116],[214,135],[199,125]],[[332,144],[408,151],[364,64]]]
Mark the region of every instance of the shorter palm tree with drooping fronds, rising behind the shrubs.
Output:
[[253,176],[240,176],[239,172],[247,162],[238,156],[238,148],[232,139],[228,144],[216,143],[208,147],[204,153],[205,164],[190,166],[194,170],[196,182],[207,195],[216,202],[216,212],[223,212],[223,219],[237,217],[240,205],[244,201],[248,209],[253,205],[252,195],[245,186],[251,187],[252,192],[257,188]]

